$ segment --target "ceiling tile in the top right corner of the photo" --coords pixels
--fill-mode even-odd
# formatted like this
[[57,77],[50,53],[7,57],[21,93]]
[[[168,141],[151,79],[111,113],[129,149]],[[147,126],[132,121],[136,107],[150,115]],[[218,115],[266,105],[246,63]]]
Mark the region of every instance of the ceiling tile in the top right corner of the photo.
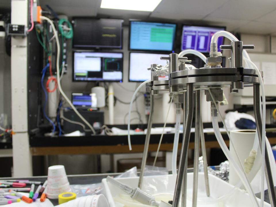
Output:
[[[206,1],[207,2],[207,1]],[[275,0],[229,0],[210,16],[237,20],[255,20],[276,9]]]

